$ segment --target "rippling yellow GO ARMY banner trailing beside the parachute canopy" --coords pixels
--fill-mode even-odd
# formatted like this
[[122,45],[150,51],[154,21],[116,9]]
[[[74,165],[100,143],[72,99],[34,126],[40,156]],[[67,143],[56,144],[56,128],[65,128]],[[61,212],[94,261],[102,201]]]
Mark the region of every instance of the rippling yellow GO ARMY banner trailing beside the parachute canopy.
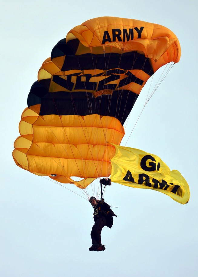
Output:
[[179,171],[170,171],[156,155],[130,147],[114,147],[116,154],[111,159],[112,182],[134,188],[157,190],[181,204],[188,203],[189,186]]

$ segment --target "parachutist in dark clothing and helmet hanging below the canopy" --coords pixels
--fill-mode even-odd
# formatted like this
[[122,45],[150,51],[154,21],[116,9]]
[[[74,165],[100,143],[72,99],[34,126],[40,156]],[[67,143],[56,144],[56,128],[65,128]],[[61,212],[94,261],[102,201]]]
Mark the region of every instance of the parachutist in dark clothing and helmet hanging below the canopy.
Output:
[[[104,179],[105,180],[105,179]],[[94,226],[91,230],[92,246],[89,251],[105,250],[104,245],[101,244],[101,232],[104,226],[109,228],[113,225],[113,216],[116,216],[110,206],[104,202],[104,199],[97,200],[91,196],[89,202],[94,208]]]

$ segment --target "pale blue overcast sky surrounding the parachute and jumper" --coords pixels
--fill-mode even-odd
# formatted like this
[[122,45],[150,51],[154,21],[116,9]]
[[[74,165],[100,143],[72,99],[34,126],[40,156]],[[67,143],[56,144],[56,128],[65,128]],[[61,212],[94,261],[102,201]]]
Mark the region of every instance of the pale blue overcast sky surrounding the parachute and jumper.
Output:
[[[1,5],[1,276],[198,276],[198,4],[181,3],[12,0]],[[106,250],[90,252],[90,203],[49,178],[20,169],[12,151],[42,62],[74,26],[101,16],[157,23],[180,41],[180,62],[141,113],[150,83],[145,85],[121,145],[153,153],[171,170],[179,170],[191,197],[181,205],[163,193],[113,183],[105,201],[118,207],[113,208],[118,217],[112,229],[102,230]],[[159,76],[154,74],[151,86]],[[79,193],[74,186],[64,186]]]

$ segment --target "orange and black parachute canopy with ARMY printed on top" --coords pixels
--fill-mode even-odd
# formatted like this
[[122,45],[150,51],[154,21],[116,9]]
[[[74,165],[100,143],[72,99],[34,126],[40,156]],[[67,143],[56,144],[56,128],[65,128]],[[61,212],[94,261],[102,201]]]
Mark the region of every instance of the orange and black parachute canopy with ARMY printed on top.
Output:
[[31,87],[15,163],[80,188],[109,176],[111,143],[120,145],[141,89],[158,68],[179,60],[177,37],[157,24],[101,17],[74,27]]

